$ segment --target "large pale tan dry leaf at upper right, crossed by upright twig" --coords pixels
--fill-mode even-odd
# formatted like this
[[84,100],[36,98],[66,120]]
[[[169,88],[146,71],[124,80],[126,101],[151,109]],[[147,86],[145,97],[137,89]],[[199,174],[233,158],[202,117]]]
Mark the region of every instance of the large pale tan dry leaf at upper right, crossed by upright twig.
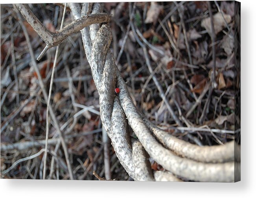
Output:
[[[226,15],[225,13],[223,13],[223,16],[224,16],[226,22],[229,24],[231,22],[231,16]],[[225,20],[224,20],[223,16],[221,15],[220,12],[216,13],[213,16],[215,34],[219,33],[223,28],[226,27]],[[211,27],[210,17],[204,18],[201,22],[201,26],[204,27],[208,31],[208,34],[211,34],[212,27]]]

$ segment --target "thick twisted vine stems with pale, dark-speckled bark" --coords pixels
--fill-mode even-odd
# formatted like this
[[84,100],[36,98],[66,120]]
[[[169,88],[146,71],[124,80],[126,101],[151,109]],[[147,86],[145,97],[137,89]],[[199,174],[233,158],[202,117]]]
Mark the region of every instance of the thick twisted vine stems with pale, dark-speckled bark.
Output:
[[[140,181],[182,181],[180,178],[186,178],[193,181],[234,182],[234,142],[200,147],[175,138],[153,125],[138,112],[115,64],[109,49],[112,31],[104,23],[109,21],[109,16],[101,13],[101,4],[70,3],[69,7],[76,22],[85,18],[88,20],[90,17],[87,15],[106,17],[106,20],[95,18],[92,22],[101,24],[74,28],[81,30],[85,54],[99,92],[103,127],[129,176]],[[29,23],[33,22],[29,17],[26,19]],[[68,29],[63,32],[69,34]],[[47,44],[49,41],[46,39],[45,42]],[[119,94],[114,93],[116,87],[120,88]],[[129,126],[138,137],[133,144]],[[236,145],[236,149],[240,150],[240,147]],[[153,172],[149,157],[161,165],[164,171]],[[236,163],[240,161],[236,160]]]

